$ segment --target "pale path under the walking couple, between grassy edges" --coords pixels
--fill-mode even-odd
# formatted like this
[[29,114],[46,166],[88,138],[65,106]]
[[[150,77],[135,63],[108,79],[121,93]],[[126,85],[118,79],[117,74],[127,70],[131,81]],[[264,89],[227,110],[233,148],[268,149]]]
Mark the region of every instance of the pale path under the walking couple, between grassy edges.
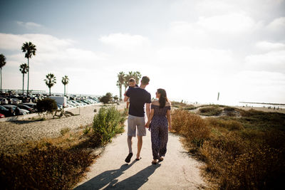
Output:
[[166,157],[157,165],[151,164],[150,132],[143,137],[140,161],[135,161],[137,142],[133,138],[134,155],[126,164],[127,134],[115,137],[75,189],[204,189],[207,186],[199,175],[201,163],[188,157],[175,134],[169,135]]

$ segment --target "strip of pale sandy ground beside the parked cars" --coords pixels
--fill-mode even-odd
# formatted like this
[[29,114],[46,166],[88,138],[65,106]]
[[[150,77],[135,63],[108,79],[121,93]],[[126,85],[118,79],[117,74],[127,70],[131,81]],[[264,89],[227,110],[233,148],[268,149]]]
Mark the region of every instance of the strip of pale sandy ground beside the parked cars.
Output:
[[[0,122],[0,152],[7,152],[14,149],[16,144],[28,141],[39,140],[48,137],[58,137],[61,135],[63,128],[76,130],[78,127],[90,125],[95,115],[94,109],[99,110],[101,105],[90,105],[68,110],[76,116],[61,117],[54,120],[20,120],[14,122]],[[123,109],[125,104],[120,104],[119,109]],[[50,117],[50,116],[49,116]],[[11,151],[13,152],[13,151]]]

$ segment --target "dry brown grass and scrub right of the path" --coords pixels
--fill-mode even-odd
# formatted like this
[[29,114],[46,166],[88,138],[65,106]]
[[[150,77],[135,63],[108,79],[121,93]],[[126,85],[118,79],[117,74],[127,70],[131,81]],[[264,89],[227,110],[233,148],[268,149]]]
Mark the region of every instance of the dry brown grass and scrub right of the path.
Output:
[[[172,112],[175,132],[185,135],[190,151],[206,163],[205,173],[219,189],[276,189],[285,176],[285,115],[241,111],[242,117],[214,117]],[[201,129],[209,132],[202,132]],[[283,126],[283,128],[282,128]],[[192,132],[195,129],[197,132]],[[187,132],[185,132],[187,130]],[[204,141],[197,144],[192,139]],[[206,135],[207,134],[207,135]],[[188,137],[192,136],[192,137]]]

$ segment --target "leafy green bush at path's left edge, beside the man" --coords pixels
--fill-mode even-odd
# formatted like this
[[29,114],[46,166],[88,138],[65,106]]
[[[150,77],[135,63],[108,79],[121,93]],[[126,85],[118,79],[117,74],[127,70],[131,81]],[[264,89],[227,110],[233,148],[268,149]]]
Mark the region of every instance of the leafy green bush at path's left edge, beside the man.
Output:
[[122,116],[115,107],[102,107],[93,120],[93,132],[101,142],[108,142],[122,127]]

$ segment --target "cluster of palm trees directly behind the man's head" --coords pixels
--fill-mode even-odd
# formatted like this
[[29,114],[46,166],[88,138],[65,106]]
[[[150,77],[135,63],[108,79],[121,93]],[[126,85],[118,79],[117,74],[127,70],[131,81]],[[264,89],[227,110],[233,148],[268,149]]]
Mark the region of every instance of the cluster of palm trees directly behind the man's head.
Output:
[[138,84],[140,82],[140,78],[142,78],[142,75],[140,74],[139,71],[134,71],[134,72],[130,71],[129,73],[124,73],[123,71],[121,71],[120,73],[118,73],[117,86],[120,90],[120,101],[123,100],[122,99],[123,87],[125,87],[125,90],[127,90],[130,78],[134,78],[135,83]]

